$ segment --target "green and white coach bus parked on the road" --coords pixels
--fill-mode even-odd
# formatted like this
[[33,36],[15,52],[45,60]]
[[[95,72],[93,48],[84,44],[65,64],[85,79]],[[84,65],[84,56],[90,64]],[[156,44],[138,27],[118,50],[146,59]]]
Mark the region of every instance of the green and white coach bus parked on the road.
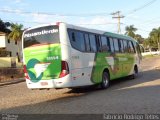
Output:
[[29,89],[75,88],[137,77],[139,44],[131,37],[63,22],[29,28],[22,36]]

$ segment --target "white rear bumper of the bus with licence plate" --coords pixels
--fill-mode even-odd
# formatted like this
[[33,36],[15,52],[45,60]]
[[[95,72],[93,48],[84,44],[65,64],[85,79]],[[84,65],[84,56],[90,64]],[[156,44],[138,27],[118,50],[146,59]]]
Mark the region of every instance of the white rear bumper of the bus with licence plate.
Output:
[[26,79],[26,84],[29,89],[67,88],[72,86],[72,81],[70,75],[67,75],[63,78],[40,80],[39,82],[32,82]]

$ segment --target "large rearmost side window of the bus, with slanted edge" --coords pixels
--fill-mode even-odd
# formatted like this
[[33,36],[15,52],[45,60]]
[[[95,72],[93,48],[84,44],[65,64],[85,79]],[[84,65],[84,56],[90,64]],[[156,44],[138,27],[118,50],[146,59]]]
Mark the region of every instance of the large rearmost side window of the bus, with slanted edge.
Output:
[[80,31],[69,30],[69,38],[73,48],[85,51],[84,36]]

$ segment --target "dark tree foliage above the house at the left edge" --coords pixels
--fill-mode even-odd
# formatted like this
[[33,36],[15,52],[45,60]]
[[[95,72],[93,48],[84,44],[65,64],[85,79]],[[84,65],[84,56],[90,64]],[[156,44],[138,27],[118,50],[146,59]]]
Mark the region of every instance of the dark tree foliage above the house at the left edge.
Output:
[[9,22],[3,22],[1,19],[0,19],[0,31],[1,32],[4,32],[4,33],[10,33],[10,29],[8,29],[8,27],[10,27],[10,23]]

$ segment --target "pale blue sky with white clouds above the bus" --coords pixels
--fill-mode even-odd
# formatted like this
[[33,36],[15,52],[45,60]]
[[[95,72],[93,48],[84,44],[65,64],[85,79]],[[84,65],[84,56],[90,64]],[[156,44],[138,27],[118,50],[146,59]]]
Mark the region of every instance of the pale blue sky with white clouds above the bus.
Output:
[[41,24],[66,22],[87,28],[118,31],[112,13],[120,11],[121,33],[134,25],[136,34],[147,38],[160,27],[160,0],[0,0],[0,19],[29,28]]

